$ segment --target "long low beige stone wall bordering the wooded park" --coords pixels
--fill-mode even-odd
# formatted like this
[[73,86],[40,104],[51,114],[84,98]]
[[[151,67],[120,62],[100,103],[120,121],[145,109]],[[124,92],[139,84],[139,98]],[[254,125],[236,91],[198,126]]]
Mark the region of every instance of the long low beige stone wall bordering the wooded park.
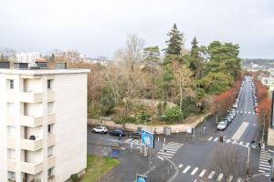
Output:
[[[199,125],[200,123],[202,123],[204,121],[205,117],[210,114],[211,113],[208,113],[205,116],[201,116],[200,118],[195,120],[195,122],[193,122],[192,124],[176,124],[176,125],[164,125],[164,126],[170,126],[172,133],[186,132],[188,127],[195,127],[195,126]],[[113,121],[102,120],[102,122],[100,122],[100,120],[97,120],[97,119],[89,119],[88,125],[90,125],[90,126],[102,125],[102,126],[108,126],[111,128],[122,126],[120,124],[115,124]],[[124,128],[129,131],[137,130],[137,127],[142,127],[143,129],[145,129],[147,131],[151,131],[151,132],[153,132],[154,129],[156,129],[158,134],[163,134],[163,126],[144,126],[144,125],[135,125],[135,124],[130,124],[130,123],[126,123],[124,125]]]

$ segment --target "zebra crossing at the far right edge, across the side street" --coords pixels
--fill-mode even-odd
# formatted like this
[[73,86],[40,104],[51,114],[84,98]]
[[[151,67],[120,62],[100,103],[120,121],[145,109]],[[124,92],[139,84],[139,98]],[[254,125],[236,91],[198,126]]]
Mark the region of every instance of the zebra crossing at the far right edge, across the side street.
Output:
[[[261,150],[259,155],[259,162],[258,162],[258,172],[259,173],[269,173],[271,166],[269,164],[269,159],[271,158],[271,150]],[[265,176],[269,177],[269,174]]]

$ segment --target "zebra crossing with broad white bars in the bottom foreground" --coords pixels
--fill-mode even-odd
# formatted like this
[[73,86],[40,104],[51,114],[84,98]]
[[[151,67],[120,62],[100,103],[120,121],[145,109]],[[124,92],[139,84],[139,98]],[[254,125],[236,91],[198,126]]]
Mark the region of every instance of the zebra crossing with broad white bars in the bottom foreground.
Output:
[[178,166],[179,170],[181,171],[181,173],[185,174],[185,175],[191,175],[191,176],[195,176],[195,177],[201,177],[204,179],[210,179],[214,180],[214,181],[227,181],[231,182],[231,181],[244,181],[242,178],[240,177],[233,177],[233,176],[228,176],[225,177],[225,174],[220,173],[220,172],[216,172],[214,170],[211,169],[206,169],[206,168],[199,168],[199,167],[192,167],[189,165],[183,165],[180,164]]

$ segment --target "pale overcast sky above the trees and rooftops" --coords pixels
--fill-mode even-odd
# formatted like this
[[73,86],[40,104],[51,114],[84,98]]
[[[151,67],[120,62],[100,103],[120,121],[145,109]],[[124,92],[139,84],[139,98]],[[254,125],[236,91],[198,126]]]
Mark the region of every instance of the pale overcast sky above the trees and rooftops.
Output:
[[112,58],[129,34],[165,47],[174,23],[186,47],[196,36],[238,44],[241,57],[274,58],[274,0],[0,0],[0,47]]

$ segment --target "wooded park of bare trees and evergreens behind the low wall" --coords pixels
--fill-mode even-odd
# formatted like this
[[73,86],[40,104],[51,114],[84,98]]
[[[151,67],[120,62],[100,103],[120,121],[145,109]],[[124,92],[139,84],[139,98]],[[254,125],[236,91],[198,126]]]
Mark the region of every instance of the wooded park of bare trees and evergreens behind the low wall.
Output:
[[199,45],[194,37],[187,50],[175,24],[166,39],[160,50],[128,35],[108,66],[69,62],[70,67],[91,69],[90,117],[111,116],[118,123],[184,122],[210,110],[214,96],[235,86],[241,71],[239,45]]

